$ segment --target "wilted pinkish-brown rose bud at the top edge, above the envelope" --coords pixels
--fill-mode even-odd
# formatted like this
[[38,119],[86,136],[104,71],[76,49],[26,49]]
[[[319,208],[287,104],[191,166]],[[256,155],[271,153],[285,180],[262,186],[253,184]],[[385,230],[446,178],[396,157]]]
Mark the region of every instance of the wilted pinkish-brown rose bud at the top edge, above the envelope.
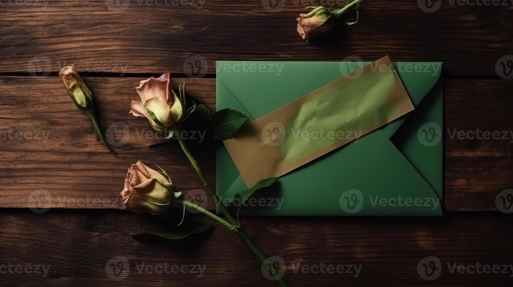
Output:
[[335,17],[327,8],[319,6],[308,14],[299,14],[298,33],[308,40],[313,36],[327,36],[333,30]]

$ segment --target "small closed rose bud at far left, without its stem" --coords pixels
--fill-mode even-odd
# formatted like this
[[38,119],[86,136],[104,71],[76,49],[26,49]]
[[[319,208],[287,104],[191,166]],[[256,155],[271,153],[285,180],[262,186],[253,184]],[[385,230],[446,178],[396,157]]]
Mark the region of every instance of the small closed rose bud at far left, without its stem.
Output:
[[75,64],[64,67],[59,75],[64,80],[66,91],[70,95],[76,108],[85,110],[93,108],[93,93],[89,86],[84,83],[84,80],[78,75]]

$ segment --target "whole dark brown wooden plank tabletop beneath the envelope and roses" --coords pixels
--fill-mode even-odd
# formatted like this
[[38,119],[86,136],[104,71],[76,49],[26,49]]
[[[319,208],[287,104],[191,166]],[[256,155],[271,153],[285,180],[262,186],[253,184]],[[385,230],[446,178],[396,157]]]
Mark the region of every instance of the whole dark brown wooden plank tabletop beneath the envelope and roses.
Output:
[[[497,68],[513,63],[512,4],[439,0],[433,2],[438,10],[425,12],[421,0],[365,0],[357,24],[307,43],[294,18],[320,3],[332,4],[0,1],[0,284],[275,285],[220,226],[171,242],[145,244],[129,236],[151,226],[119,210],[130,163],[141,159],[172,171],[184,191],[202,187],[177,142],[160,145],[161,134],[128,114],[138,98],[133,88],[171,72],[175,86],[185,78],[190,96],[214,109],[216,60],[389,55],[443,62],[444,216],[243,217],[242,225],[264,254],[284,260],[290,286],[511,285],[512,217],[498,211],[496,199],[513,189],[513,74]],[[72,63],[86,72],[103,129],[121,127],[126,136],[113,147],[117,158],[96,142],[89,119],[73,107],[57,76]],[[490,136],[472,136],[476,131]],[[191,150],[214,183],[213,147]],[[41,191],[51,208],[34,213],[28,204]],[[130,269],[117,280],[106,267],[120,256]],[[440,260],[441,275],[433,281],[418,271],[428,256]],[[155,269],[166,265],[183,270]],[[327,272],[341,265],[345,272]],[[476,265],[507,268],[472,273]],[[356,266],[354,272],[348,266]]]

